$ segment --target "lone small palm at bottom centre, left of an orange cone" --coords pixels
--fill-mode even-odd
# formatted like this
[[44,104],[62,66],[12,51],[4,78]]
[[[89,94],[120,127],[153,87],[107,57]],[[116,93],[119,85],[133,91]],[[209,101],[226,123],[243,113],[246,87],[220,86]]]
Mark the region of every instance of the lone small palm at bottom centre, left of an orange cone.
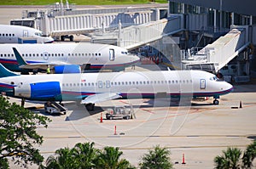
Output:
[[166,148],[160,148],[160,145],[149,149],[148,154],[143,155],[139,166],[142,169],[158,169],[158,168],[172,168],[170,159],[171,152]]

